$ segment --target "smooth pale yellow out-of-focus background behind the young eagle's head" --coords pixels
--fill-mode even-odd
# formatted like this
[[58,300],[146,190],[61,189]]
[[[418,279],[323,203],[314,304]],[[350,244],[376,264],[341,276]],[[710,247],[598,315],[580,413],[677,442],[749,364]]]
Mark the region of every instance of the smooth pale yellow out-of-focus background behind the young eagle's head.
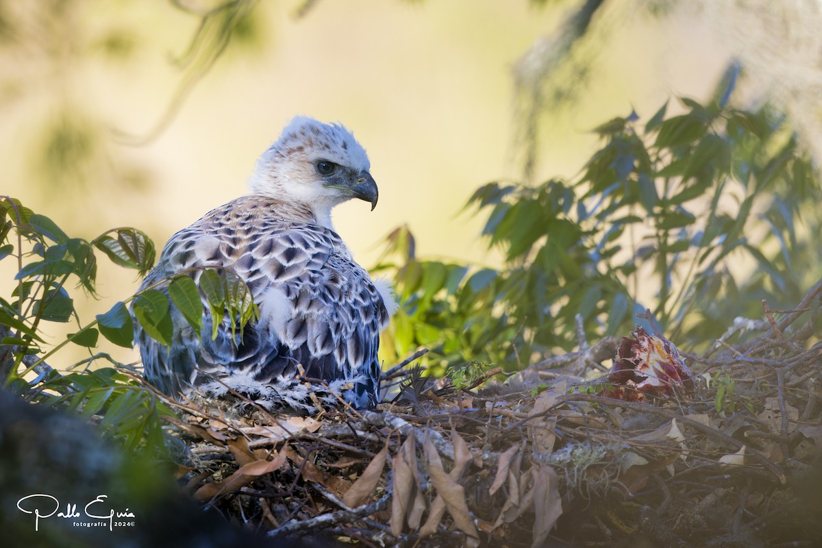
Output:
[[[16,21],[36,28],[48,16],[38,15],[44,8],[35,3],[9,9],[30,10]],[[307,114],[343,122],[371,158],[380,204],[373,212],[361,202],[345,204],[334,218],[365,266],[373,265],[382,238],[404,223],[421,256],[496,261],[478,240],[480,219],[459,210],[479,185],[520,177],[512,70],[575,6],[326,0],[298,18],[302,2],[261,2],[252,40],[230,45],[169,127],[147,145],[132,146],[115,136],[144,134],[161,117],[185,74],[173,60],[198,21],[168,2],[62,3],[70,5],[67,15],[41,25],[42,47],[36,33],[27,35],[31,45],[22,51],[0,44],[3,194],[72,236],[90,239],[133,226],[162,246],[245,192],[256,156],[289,117]],[[589,45],[592,85],[570,107],[542,119],[538,180],[573,176],[593,150],[589,130],[598,123],[632,108],[647,118],[672,96],[704,98],[727,65],[727,53],[697,18],[653,17],[634,2],[612,2],[602,16],[614,21],[599,47]],[[117,33],[131,40],[127,56],[96,53],[100,40]],[[66,105],[95,122],[103,152],[82,180],[49,180],[38,169],[38,147]],[[123,171],[131,173],[130,183]],[[11,267],[0,265],[3,295]],[[104,257],[99,282],[99,300],[79,306],[85,320],[138,284]]]

